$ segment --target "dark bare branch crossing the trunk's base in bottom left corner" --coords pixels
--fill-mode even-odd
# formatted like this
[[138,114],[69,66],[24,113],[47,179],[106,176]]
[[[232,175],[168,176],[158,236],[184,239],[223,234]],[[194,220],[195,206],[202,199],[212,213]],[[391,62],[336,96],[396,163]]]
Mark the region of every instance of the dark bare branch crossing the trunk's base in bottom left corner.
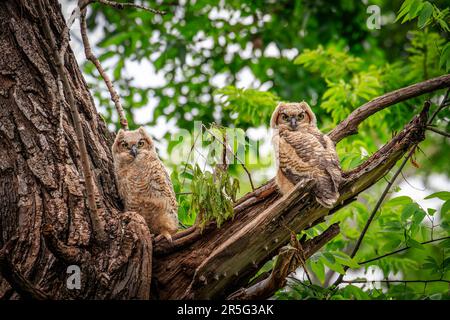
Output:
[[8,256],[17,242],[17,238],[12,238],[0,250],[0,274],[8,281],[11,287],[17,291],[24,300],[50,300],[51,297],[44,291],[36,288],[27,280],[9,260]]

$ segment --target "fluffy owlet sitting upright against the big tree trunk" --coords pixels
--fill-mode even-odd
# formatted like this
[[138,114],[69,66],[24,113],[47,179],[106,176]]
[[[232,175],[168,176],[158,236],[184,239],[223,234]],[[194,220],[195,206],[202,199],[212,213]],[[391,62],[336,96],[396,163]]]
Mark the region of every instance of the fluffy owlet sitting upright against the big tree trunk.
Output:
[[166,168],[144,128],[119,130],[112,146],[119,194],[125,209],[142,215],[153,234],[172,242],[178,228],[177,201]]

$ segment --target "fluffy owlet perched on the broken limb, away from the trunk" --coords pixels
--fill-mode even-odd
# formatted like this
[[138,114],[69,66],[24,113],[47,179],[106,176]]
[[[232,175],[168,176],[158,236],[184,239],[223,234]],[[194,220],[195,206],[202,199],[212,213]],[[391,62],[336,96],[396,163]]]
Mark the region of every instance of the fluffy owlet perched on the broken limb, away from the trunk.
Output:
[[339,198],[342,171],[334,144],[317,129],[316,116],[309,105],[280,103],[270,126],[274,129],[272,141],[280,191],[287,193],[303,179],[313,179],[317,202],[333,207]]

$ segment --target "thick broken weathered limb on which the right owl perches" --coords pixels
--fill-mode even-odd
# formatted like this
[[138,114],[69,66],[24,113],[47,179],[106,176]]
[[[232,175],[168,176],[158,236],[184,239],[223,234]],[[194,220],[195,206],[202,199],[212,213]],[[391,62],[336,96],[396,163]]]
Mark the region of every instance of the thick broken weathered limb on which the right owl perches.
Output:
[[[381,179],[408,149],[424,139],[426,112],[416,116],[389,143],[356,169],[345,173],[339,202],[353,200]],[[161,298],[220,298],[242,286],[270,257],[289,241],[286,228],[299,232],[323,219],[329,210],[307,196],[308,187],[294,190],[280,199],[273,181],[244,196],[236,204],[233,221],[204,234],[184,250],[164,261],[155,260]],[[294,194],[295,193],[295,194]],[[196,252],[195,255],[189,254]],[[180,285],[192,277],[189,287]],[[177,282],[178,281],[178,282]]]

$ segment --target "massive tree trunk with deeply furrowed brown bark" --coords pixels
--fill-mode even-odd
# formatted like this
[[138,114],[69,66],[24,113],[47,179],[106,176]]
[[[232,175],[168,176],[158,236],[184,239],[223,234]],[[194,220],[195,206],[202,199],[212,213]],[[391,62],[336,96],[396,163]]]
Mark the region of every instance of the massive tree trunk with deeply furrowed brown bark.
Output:
[[[113,137],[95,110],[69,48],[65,68],[96,177],[97,205],[111,238],[104,247],[91,241],[74,126],[58,89],[58,73],[40,19],[49,21],[59,47],[65,21],[56,0],[44,1],[45,17],[38,16],[36,4],[0,3],[0,247],[17,237],[9,262],[51,298],[148,298],[151,236],[140,216],[118,214],[110,152]],[[60,241],[45,243],[42,234]],[[61,248],[63,244],[68,247]],[[49,246],[61,251],[57,259]],[[74,249],[72,256],[69,249]],[[71,264],[81,268],[80,290],[66,286]],[[108,274],[113,274],[109,280]],[[17,297],[3,278],[0,297]]]

